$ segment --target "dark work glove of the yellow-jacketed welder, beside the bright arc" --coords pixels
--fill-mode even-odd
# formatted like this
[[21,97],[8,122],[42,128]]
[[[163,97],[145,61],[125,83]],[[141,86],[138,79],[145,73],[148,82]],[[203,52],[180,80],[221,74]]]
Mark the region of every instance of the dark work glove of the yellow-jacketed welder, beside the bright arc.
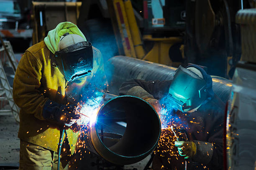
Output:
[[44,104],[43,117],[46,120],[54,120],[61,125],[71,126],[80,118],[75,114],[77,105],[61,105],[52,100],[47,100]]

